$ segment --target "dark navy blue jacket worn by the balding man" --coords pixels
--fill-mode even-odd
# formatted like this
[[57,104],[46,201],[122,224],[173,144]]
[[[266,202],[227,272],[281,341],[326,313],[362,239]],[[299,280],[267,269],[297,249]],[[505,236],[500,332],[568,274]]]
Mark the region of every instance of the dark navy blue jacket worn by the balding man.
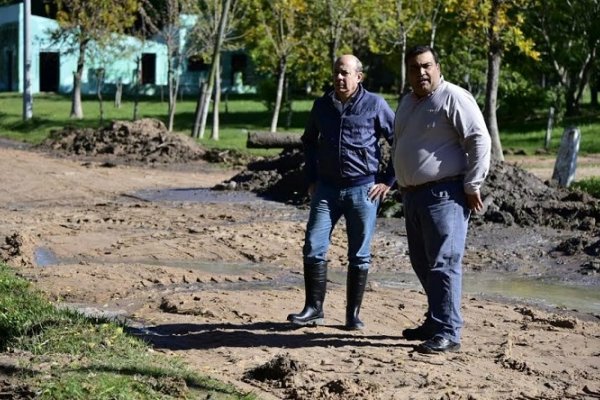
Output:
[[394,112],[382,97],[362,85],[342,113],[332,96],[331,90],[315,100],[302,135],[309,183],[322,180],[350,187],[382,182],[391,186],[395,179],[391,160],[385,174],[377,175],[379,139],[392,143]]

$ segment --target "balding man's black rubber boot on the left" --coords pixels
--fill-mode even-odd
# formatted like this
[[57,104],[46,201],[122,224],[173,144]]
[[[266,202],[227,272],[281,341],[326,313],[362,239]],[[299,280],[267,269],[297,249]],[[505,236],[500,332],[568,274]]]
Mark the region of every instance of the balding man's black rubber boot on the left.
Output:
[[327,288],[327,263],[304,264],[304,309],[290,314],[287,320],[294,325],[323,325],[323,302]]

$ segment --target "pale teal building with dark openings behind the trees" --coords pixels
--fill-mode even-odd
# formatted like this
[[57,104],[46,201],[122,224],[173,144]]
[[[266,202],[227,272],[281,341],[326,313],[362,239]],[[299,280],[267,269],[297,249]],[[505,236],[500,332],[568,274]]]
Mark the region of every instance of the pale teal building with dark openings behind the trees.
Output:
[[[42,2],[32,1],[32,8]],[[31,92],[70,93],[73,74],[77,66],[77,51],[51,40],[51,32],[58,23],[44,16],[31,15]],[[23,92],[24,57],[24,6],[20,2],[0,7],[0,91]],[[184,17],[185,27],[191,27],[193,17]],[[180,35],[180,46],[185,46],[187,32]],[[121,35],[111,41],[109,48],[100,49],[92,43],[86,54],[82,76],[82,94],[94,94],[98,88],[97,71],[104,71],[103,92],[114,92],[121,83],[127,92],[136,80],[136,63],[140,61],[142,93],[155,95],[166,93],[168,54],[167,46],[160,39],[140,40]],[[249,92],[252,87],[240,82],[240,77],[252,75],[252,66],[243,51],[226,52],[222,55],[222,87],[224,91]],[[199,82],[204,79],[210,66],[194,59],[184,60],[179,68],[180,93],[198,92]]]

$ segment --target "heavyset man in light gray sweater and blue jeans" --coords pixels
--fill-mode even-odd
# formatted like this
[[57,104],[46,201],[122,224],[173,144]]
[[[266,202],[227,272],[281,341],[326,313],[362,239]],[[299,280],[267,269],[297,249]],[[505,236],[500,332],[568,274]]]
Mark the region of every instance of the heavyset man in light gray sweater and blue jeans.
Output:
[[405,63],[412,93],[396,110],[393,164],[428,310],[422,325],[402,334],[423,341],[420,352],[458,351],[462,258],[470,213],[483,209],[491,140],[475,99],[444,80],[434,49],[414,47]]

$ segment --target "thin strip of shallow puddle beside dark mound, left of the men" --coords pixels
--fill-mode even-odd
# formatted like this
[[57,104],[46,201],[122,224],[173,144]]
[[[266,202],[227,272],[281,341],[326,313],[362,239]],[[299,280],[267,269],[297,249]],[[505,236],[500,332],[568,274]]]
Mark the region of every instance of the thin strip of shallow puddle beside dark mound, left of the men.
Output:
[[144,201],[179,201],[194,203],[253,203],[268,199],[245,190],[212,190],[207,188],[144,189],[127,194]]

